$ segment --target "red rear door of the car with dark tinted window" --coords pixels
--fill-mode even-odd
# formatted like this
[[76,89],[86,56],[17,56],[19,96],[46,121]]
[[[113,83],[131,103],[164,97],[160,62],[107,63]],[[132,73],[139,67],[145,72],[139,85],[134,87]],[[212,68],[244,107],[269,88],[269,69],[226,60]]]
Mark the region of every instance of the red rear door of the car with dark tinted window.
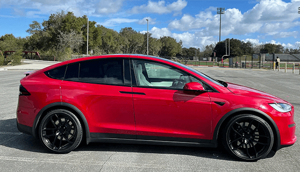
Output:
[[83,112],[91,137],[136,138],[131,92],[128,58],[68,64],[61,83],[62,102]]

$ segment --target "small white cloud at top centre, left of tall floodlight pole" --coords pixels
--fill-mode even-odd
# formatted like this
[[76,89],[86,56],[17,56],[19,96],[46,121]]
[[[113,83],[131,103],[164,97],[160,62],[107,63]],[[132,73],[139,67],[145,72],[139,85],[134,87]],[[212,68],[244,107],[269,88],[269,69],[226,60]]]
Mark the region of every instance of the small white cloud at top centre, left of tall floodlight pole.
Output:
[[177,0],[173,3],[166,3],[164,0],[159,0],[157,2],[149,0],[145,5],[134,6],[131,9],[132,13],[172,13],[174,15],[181,13],[181,10],[187,5],[185,0]]

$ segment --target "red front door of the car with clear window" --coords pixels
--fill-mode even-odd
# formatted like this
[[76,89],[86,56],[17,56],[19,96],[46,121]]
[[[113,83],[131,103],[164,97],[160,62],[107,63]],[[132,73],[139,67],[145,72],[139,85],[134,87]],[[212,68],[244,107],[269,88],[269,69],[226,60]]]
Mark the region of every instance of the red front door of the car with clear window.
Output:
[[153,61],[132,60],[132,66],[137,84],[132,88],[137,138],[209,139],[208,93],[183,90],[185,83],[195,80],[193,76]]

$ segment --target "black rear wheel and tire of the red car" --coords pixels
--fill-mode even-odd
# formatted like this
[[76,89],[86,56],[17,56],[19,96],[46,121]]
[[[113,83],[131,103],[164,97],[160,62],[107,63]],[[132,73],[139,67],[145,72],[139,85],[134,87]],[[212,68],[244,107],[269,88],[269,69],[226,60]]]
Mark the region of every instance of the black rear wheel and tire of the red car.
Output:
[[78,118],[65,109],[49,111],[41,120],[38,134],[41,143],[54,153],[68,153],[82,139],[82,127]]

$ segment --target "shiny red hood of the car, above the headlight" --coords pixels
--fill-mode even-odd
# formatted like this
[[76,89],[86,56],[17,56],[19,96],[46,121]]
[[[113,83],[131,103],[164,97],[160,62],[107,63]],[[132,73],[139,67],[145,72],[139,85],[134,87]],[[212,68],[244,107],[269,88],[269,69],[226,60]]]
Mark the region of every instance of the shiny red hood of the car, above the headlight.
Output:
[[279,97],[276,97],[274,95],[271,95],[269,93],[257,89],[249,88],[242,85],[237,85],[234,83],[227,83],[227,84],[228,84],[227,88],[234,94],[264,98],[264,99],[271,100],[273,102],[287,102]]

